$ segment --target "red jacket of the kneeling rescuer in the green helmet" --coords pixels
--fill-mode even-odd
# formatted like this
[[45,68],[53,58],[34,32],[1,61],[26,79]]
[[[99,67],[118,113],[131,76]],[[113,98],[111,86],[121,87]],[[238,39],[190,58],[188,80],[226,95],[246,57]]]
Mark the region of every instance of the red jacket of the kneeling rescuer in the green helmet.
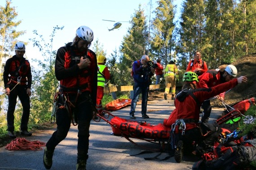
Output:
[[[182,95],[181,91],[177,94],[177,97],[174,101],[174,105],[176,108],[172,111],[169,119],[164,119],[163,124],[165,126],[171,127],[177,119],[194,119],[195,123],[186,123],[186,130],[197,127],[199,122],[200,106],[202,105],[203,101],[207,98],[216,96],[217,94],[222,93],[230,88],[234,88],[237,84],[237,79],[234,79],[232,81],[216,85],[212,88],[189,89],[189,91],[193,93],[194,96],[197,98],[198,103],[191,95],[188,95],[187,97]],[[185,97],[184,101],[182,102],[180,101],[182,100],[181,97]]]

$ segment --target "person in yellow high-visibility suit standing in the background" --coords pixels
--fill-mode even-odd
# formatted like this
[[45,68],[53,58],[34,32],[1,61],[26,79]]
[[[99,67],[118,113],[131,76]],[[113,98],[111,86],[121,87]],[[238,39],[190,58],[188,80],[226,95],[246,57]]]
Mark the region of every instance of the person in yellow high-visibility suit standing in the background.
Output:
[[165,91],[164,99],[167,100],[167,95],[169,93],[170,87],[172,86],[172,100],[174,100],[175,90],[176,90],[176,81],[179,81],[179,72],[177,65],[175,64],[177,59],[171,58],[169,64],[166,65],[164,70],[165,76]]

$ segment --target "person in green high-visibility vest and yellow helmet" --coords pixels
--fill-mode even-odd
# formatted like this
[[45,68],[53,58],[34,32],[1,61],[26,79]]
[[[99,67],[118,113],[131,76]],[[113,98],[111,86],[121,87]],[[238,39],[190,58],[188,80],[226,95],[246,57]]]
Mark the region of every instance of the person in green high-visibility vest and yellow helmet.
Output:
[[105,66],[106,57],[104,55],[97,56],[97,64],[98,64],[98,85],[97,85],[97,100],[96,100],[96,108],[98,110],[98,114],[100,114],[103,110],[102,107],[102,98],[104,95],[104,87],[105,82],[110,79],[110,72],[108,68]]

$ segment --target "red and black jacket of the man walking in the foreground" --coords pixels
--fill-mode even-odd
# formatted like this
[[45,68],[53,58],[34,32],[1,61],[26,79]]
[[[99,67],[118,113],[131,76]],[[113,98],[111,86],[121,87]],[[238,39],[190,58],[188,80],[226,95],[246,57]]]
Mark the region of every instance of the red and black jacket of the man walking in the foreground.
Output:
[[[82,92],[89,91],[91,93],[93,103],[96,103],[96,54],[89,49],[88,51],[81,53],[76,49],[76,47],[68,44],[65,47],[60,47],[57,51],[55,60],[55,76],[57,80],[60,81],[60,85],[66,88],[79,88]],[[90,59],[91,65],[89,68],[79,69],[77,64],[79,64],[81,56],[88,57],[88,59]]]

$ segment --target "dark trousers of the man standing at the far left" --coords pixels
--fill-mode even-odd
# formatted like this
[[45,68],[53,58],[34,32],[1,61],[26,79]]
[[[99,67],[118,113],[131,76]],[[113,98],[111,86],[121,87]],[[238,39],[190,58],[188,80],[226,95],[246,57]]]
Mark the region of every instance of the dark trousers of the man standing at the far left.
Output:
[[11,132],[14,131],[14,110],[17,103],[17,97],[19,97],[23,108],[20,129],[25,131],[27,130],[27,123],[30,115],[30,98],[26,93],[26,85],[17,85],[14,89],[13,87],[14,86],[10,86],[10,90],[12,91],[8,96],[7,130]]

